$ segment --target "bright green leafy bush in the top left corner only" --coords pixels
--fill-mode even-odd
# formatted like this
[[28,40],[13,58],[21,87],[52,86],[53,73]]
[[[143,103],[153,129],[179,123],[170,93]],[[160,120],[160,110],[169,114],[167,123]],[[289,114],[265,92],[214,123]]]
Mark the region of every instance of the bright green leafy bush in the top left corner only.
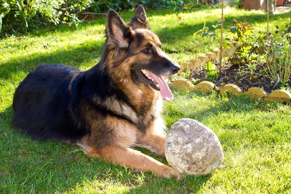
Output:
[[91,0],[0,0],[1,31],[28,32],[50,23],[77,23]]

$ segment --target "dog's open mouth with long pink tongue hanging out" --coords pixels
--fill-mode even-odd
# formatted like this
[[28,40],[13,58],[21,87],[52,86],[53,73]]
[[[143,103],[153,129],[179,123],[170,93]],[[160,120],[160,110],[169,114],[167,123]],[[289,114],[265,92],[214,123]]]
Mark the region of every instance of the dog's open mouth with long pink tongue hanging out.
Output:
[[161,95],[166,100],[173,100],[174,96],[166,83],[166,81],[162,78],[162,76],[158,76],[146,69],[141,69],[142,77],[151,88],[158,90],[161,92]]

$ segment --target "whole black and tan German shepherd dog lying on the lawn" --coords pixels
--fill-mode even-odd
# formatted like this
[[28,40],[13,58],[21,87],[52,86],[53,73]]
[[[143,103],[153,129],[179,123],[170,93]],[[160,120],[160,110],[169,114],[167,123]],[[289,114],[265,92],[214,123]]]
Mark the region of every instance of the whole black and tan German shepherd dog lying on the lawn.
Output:
[[16,89],[13,122],[34,139],[78,145],[90,157],[180,178],[174,168],[132,149],[164,156],[162,97],[172,100],[173,94],[163,77],[178,70],[150,31],[142,5],[129,24],[109,10],[100,62],[87,71],[38,66]]

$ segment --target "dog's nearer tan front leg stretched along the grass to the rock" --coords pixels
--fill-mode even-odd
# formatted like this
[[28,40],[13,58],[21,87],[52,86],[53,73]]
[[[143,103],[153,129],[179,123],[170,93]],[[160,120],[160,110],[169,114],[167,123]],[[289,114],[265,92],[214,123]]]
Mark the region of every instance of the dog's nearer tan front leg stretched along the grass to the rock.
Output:
[[116,162],[128,168],[138,169],[140,171],[151,171],[154,172],[156,176],[162,178],[170,178],[173,176],[178,179],[182,177],[174,168],[166,166],[139,151],[127,147],[106,147],[102,149],[101,155],[110,162]]

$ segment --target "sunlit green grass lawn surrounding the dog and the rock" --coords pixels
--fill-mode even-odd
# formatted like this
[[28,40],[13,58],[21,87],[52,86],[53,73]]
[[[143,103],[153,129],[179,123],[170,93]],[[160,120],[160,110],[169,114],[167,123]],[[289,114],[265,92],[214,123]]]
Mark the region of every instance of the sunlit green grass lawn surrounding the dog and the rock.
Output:
[[[121,13],[126,21],[133,13]],[[219,9],[174,13],[148,11],[153,32],[177,62],[194,57],[199,37],[194,32],[215,24]],[[178,18],[181,16],[181,19]],[[247,18],[256,32],[266,32],[266,14],[226,8],[225,24]],[[290,22],[290,14],[270,16],[271,30]],[[40,63],[59,63],[89,69],[100,59],[105,19],[78,28],[47,28],[20,38],[0,41],[0,193],[291,193],[291,108],[248,97],[218,96],[174,90],[165,102],[170,126],[193,118],[212,129],[224,149],[225,162],[212,175],[181,180],[156,178],[122,166],[91,159],[78,149],[56,141],[31,140],[11,126],[12,99],[21,80]],[[203,40],[201,51],[217,48]],[[146,149],[139,149],[167,163]]]

